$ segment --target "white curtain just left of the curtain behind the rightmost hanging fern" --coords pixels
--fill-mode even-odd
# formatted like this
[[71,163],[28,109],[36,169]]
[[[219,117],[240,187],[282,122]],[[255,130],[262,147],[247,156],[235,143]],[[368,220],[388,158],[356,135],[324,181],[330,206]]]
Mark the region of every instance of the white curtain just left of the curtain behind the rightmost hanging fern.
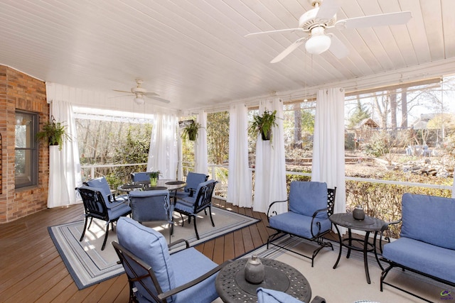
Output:
[[232,104],[230,106],[228,201],[240,207],[252,206],[247,115],[248,109],[245,104]]

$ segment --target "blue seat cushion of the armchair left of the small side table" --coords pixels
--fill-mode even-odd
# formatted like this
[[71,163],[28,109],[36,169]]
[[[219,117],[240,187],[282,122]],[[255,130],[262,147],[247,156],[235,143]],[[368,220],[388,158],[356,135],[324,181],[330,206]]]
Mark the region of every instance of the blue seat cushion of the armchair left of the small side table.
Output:
[[[321,223],[321,233],[328,231],[331,228],[331,221],[329,219],[316,218],[313,222],[314,236],[317,236],[319,231],[316,222]],[[288,211],[284,214],[278,214],[277,216],[271,216],[269,219],[269,226],[277,228],[280,231],[286,231],[287,233],[294,233],[294,235],[301,236],[303,238],[313,238],[311,235],[311,216],[304,216],[302,214],[296,214],[294,211]]]

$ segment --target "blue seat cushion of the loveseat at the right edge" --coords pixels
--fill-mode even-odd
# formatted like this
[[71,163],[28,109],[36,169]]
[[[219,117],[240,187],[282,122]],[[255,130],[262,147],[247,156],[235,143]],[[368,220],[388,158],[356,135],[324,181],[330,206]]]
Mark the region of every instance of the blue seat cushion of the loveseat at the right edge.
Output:
[[382,257],[455,283],[455,250],[402,237],[387,243],[382,251]]

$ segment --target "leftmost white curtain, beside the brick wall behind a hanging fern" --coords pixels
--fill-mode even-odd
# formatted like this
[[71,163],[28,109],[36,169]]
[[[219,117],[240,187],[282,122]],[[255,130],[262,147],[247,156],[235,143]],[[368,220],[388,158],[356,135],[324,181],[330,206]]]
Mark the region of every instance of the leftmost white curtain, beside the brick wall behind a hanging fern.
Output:
[[46,83],[46,97],[50,103],[50,119],[66,125],[70,141],[65,141],[61,150],[58,146],[49,148],[48,207],[76,204],[75,187],[82,185],[79,150],[77,148],[76,126],[71,105],[80,91],[55,83]]

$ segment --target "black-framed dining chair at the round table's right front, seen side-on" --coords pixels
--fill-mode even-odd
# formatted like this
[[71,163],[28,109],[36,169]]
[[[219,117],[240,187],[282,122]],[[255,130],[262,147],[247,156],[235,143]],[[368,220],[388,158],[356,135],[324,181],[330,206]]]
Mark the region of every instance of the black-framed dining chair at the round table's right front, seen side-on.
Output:
[[183,215],[188,216],[188,223],[191,223],[191,218],[194,218],[194,231],[196,231],[196,238],[199,240],[198,227],[196,226],[196,217],[200,211],[205,211],[205,215],[210,214],[210,221],[212,221],[212,226],[215,227],[212,217],[212,194],[213,189],[215,189],[215,184],[218,181],[208,180],[198,184],[196,188],[196,194],[193,197],[186,197],[182,199],[176,199],[175,206],[173,211],[178,212],[182,217],[182,226],[183,226]]

